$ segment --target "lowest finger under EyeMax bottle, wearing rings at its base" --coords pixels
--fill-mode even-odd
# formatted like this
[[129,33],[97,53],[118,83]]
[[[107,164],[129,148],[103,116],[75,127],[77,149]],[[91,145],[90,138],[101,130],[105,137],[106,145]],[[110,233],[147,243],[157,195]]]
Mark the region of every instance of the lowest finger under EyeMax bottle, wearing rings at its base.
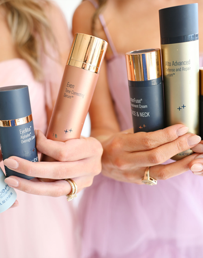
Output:
[[[88,187],[92,184],[93,177],[79,177],[73,178],[73,180],[76,182],[77,192],[79,192],[84,187]],[[72,192],[70,183],[65,180],[42,182],[39,179],[26,180],[15,176],[10,176],[4,181],[15,189],[34,195],[59,197],[68,195]]]

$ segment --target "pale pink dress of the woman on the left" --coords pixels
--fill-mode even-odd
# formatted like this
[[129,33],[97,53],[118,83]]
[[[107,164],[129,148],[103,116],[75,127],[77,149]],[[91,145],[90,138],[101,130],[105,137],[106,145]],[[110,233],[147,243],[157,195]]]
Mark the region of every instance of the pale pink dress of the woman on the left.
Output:
[[[51,95],[57,94],[63,68],[48,56],[43,66],[45,81],[39,83],[25,60],[0,62],[0,87],[28,85],[34,127],[45,133],[45,105],[52,105]],[[0,258],[77,258],[78,223],[73,203],[67,202],[65,196],[53,198],[16,191],[20,206],[0,213]]]

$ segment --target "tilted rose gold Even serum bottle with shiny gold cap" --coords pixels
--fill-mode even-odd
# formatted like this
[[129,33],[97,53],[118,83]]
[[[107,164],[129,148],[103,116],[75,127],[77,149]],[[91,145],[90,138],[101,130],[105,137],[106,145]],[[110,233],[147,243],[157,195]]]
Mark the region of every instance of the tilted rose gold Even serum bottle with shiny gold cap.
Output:
[[[65,142],[80,137],[107,45],[100,38],[75,34],[51,115],[48,139]],[[53,159],[43,155],[42,161]]]

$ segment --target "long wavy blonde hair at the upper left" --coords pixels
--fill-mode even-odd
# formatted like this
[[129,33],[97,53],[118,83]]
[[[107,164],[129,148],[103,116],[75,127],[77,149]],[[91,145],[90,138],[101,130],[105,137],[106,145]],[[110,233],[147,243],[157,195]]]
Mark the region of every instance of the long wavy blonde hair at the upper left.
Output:
[[30,65],[37,80],[43,78],[40,52],[46,52],[46,41],[54,44],[51,25],[43,4],[48,0],[1,0],[16,49]]

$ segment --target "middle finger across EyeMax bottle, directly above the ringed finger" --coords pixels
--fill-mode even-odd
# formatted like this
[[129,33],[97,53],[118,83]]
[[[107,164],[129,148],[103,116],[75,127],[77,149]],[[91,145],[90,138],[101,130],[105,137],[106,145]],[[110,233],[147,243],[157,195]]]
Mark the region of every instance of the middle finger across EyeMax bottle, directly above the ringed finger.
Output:
[[35,178],[67,179],[101,172],[101,161],[91,157],[69,162],[31,162],[11,156],[3,161],[9,169]]

